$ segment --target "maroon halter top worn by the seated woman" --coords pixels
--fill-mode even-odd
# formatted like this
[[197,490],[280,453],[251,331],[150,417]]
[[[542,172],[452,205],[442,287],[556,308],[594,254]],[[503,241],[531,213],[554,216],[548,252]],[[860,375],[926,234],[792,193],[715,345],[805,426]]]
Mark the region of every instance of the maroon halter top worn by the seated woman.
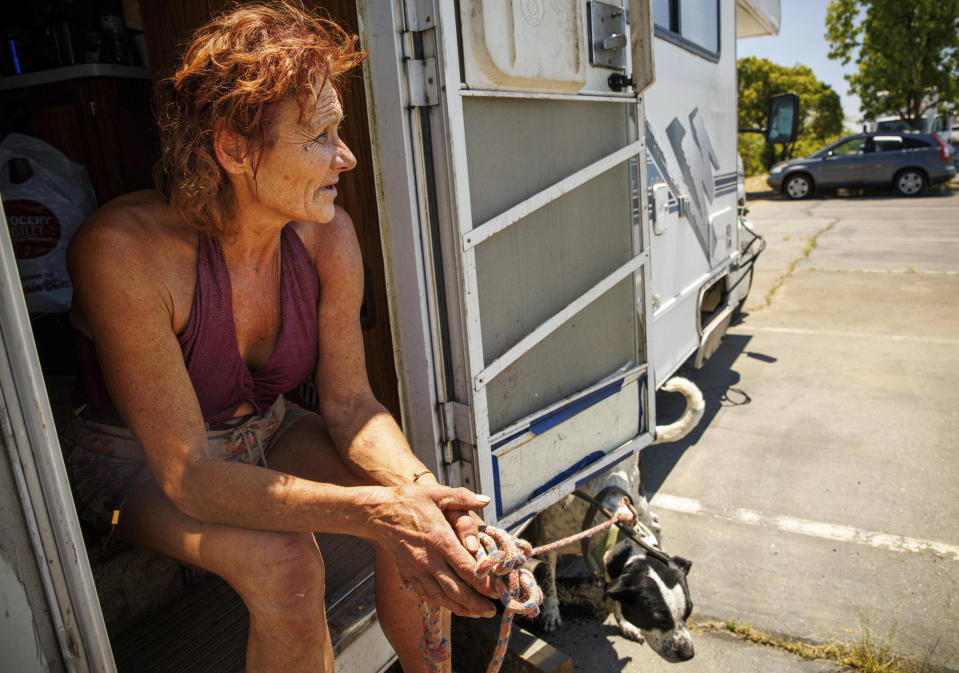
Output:
[[[230,420],[243,402],[261,414],[316,369],[320,297],[316,268],[291,225],[283,228],[280,246],[280,332],[266,365],[251,372],[236,342],[233,295],[223,251],[216,238],[199,237],[193,306],[178,340],[207,423]],[[77,334],[82,401],[88,404],[92,418],[122,424],[103,383],[94,344]]]

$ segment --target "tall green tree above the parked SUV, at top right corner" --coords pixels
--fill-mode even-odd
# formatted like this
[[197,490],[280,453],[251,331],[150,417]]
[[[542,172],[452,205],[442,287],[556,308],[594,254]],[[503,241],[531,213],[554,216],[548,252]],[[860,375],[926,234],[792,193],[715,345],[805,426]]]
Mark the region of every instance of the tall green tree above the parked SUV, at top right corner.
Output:
[[953,114],[959,103],[959,0],[831,0],[829,58],[846,75],[869,119],[898,114],[919,128],[923,112]]

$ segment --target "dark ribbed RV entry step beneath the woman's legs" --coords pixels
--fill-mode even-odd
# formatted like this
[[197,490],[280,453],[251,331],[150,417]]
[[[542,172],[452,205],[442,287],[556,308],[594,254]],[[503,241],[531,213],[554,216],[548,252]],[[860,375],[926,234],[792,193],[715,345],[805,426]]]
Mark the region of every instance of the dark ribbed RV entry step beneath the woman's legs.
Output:
[[[339,653],[375,621],[373,549],[358,538],[317,535],[327,571],[327,621]],[[113,639],[119,673],[242,673],[249,614],[211,576]]]

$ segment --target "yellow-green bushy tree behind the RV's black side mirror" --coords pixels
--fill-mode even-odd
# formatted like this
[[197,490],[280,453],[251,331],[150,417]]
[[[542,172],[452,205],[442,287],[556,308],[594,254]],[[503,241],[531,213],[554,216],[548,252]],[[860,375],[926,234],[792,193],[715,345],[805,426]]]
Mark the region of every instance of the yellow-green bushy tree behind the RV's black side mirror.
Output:
[[795,142],[776,146],[762,136],[743,133],[739,153],[746,175],[768,170],[777,161],[804,156],[835,140],[842,133],[843,112],[839,94],[820,82],[807,66],[787,67],[764,58],[739,59],[739,128],[765,128],[769,99],[781,93],[799,95],[799,135]]

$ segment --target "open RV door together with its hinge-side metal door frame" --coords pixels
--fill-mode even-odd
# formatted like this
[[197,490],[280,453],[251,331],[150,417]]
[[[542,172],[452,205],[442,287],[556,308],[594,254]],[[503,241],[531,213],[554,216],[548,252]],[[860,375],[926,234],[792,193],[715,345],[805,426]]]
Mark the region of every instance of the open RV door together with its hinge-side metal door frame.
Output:
[[361,17],[405,429],[510,527],[651,439],[649,7],[391,4]]

